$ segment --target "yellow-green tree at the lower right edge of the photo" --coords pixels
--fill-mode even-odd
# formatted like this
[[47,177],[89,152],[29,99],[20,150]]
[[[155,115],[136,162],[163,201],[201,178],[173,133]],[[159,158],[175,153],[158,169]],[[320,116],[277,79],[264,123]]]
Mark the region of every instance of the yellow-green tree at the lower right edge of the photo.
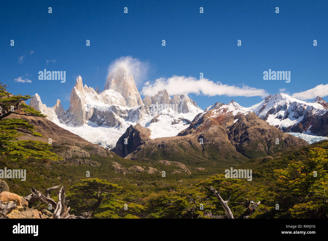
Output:
[[298,159],[285,169],[276,170],[273,186],[275,202],[279,204],[277,217],[328,217],[328,150],[311,148],[301,151]]

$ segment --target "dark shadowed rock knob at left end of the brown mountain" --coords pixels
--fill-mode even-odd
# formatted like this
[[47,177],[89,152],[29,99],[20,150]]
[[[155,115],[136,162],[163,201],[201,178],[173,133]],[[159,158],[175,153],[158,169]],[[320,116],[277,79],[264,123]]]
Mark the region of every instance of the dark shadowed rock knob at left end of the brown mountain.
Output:
[[127,156],[143,145],[149,139],[150,134],[150,129],[142,127],[140,124],[131,125],[116,142],[115,153],[121,157]]

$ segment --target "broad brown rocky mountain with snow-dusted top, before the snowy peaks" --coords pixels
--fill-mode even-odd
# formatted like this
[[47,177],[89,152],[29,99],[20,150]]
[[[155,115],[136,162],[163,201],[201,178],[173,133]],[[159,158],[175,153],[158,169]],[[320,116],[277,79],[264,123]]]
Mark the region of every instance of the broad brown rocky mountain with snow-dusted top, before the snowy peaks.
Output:
[[[242,108],[235,101],[216,103],[199,113],[190,126],[171,138],[148,139],[125,158],[139,160],[158,155],[206,157],[226,162],[267,156],[285,148],[306,146]],[[197,159],[197,158],[196,158]]]

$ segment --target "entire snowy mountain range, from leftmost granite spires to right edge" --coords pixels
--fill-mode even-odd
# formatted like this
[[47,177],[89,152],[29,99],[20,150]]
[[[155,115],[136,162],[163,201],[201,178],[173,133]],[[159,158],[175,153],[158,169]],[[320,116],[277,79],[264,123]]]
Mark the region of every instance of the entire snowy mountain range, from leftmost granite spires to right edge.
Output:
[[110,72],[102,92],[98,87],[94,90],[83,86],[79,76],[68,110],[64,111],[60,100],[54,107],[47,107],[38,94],[31,98],[30,106],[45,113],[60,127],[107,148],[113,148],[130,125],[139,123],[149,128],[151,138],[176,136],[209,110],[213,118],[234,115],[234,122],[239,115],[254,111],[284,132],[328,135],[328,103],[319,96],[310,103],[280,93],[269,95],[249,108],[232,100],[228,104],[215,103],[203,111],[187,95],[171,98],[167,90],[158,91],[154,96],[146,95],[142,100],[132,74],[129,75],[124,67]]

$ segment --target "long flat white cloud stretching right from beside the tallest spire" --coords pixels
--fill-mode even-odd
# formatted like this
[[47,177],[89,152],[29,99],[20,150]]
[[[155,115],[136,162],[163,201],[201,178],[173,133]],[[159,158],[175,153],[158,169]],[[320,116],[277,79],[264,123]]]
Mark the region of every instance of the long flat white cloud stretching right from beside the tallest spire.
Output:
[[268,93],[263,89],[256,89],[248,86],[225,85],[220,82],[214,83],[209,79],[196,79],[194,77],[172,76],[171,78],[159,78],[153,83],[145,83],[141,93],[143,95],[154,95],[159,90],[166,89],[169,94],[204,94],[208,96],[227,95],[227,96],[261,96],[265,97]]

